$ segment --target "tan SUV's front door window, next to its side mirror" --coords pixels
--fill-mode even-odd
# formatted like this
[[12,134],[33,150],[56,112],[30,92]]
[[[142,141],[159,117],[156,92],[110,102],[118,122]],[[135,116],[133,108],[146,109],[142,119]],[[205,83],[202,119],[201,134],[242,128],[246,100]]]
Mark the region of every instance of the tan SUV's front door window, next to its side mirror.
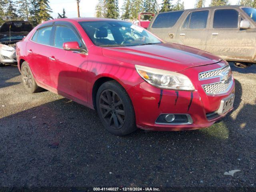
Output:
[[216,10],[213,28],[238,28],[238,12],[234,9]]

